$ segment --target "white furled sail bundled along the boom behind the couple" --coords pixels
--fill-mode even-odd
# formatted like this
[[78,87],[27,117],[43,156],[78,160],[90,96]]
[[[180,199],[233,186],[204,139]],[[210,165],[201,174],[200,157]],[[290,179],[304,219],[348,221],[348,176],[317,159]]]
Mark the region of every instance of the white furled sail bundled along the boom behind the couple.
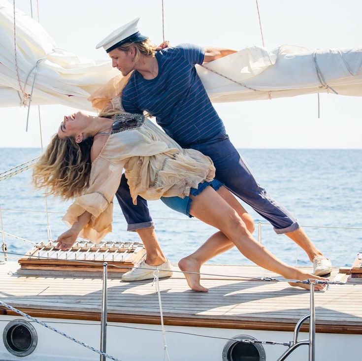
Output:
[[[119,76],[110,60],[88,60],[56,47],[31,17],[0,0],[0,106],[63,104],[92,110],[87,98]],[[16,51],[15,51],[16,48]],[[362,96],[362,48],[309,51],[251,46],[197,66],[213,102],[294,97],[329,92]]]

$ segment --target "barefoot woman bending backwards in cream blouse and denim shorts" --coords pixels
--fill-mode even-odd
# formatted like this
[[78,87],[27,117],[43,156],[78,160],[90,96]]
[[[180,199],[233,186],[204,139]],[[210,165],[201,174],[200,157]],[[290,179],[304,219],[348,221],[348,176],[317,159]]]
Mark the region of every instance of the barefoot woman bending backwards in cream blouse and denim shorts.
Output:
[[[63,199],[77,197],[63,218],[71,227],[58,238],[60,249],[69,249],[78,235],[99,242],[111,231],[112,199],[123,169],[134,203],[138,195],[147,200],[177,196],[190,216],[220,230],[179,262],[182,271],[199,272],[202,263],[235,245],[245,257],[283,277],[323,279],[281,262],[252,237],[250,216],[214,179],[210,158],[182,149],[143,116],[121,111],[103,112],[99,117],[82,112],[65,116],[34,167],[37,189],[47,188],[48,194]],[[168,205],[176,210],[179,206]],[[185,276],[191,289],[207,291],[199,275]]]

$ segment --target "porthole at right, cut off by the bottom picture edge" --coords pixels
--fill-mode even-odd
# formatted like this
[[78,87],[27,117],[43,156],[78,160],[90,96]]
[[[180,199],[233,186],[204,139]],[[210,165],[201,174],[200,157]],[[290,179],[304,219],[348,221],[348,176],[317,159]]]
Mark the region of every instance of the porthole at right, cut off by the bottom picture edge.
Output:
[[[232,338],[256,340],[249,335],[237,335]],[[224,346],[223,361],[265,361],[265,351],[261,344],[230,340]]]

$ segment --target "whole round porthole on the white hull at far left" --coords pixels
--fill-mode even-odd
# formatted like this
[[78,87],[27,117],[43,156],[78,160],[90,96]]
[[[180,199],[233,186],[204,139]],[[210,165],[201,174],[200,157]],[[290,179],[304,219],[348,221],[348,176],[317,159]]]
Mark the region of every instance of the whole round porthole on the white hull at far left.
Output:
[[2,340],[10,354],[24,357],[35,350],[38,337],[35,328],[29,322],[18,319],[5,326]]

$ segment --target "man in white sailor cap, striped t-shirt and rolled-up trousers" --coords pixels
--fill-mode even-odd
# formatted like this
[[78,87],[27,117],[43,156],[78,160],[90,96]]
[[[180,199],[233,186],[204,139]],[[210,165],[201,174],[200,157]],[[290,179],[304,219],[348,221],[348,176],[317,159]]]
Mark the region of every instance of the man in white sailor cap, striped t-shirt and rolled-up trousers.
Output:
[[[223,122],[197,75],[196,64],[211,62],[236,51],[201,48],[191,44],[155,51],[148,37],[139,33],[138,20],[115,30],[97,45],[97,48],[106,50],[112,59],[112,66],[117,67],[123,76],[133,71],[122,91],[123,108],[130,113],[146,110],[183,148],[197,149],[209,156],[216,167],[218,180],[268,220],[276,233],[286,234],[303,248],[313,263],[314,274],[328,274],[331,271],[329,259],[310,241],[292,214],[278,205],[257,183],[230,143]],[[166,261],[157,240],[147,202],[138,197],[137,205],[132,204],[124,176],[117,198],[128,222],[128,230],[136,231],[146,248],[147,258],[142,268],[150,268],[134,268],[125,273],[122,279],[134,281],[153,278],[152,268],[156,266],[162,269],[161,277],[171,275],[170,263]],[[172,198],[164,198],[163,201],[181,202]],[[228,247],[224,245],[223,249],[215,250],[209,256],[211,258],[226,249]],[[198,261],[188,261],[192,261],[194,266],[183,264],[182,270],[196,271]]]

